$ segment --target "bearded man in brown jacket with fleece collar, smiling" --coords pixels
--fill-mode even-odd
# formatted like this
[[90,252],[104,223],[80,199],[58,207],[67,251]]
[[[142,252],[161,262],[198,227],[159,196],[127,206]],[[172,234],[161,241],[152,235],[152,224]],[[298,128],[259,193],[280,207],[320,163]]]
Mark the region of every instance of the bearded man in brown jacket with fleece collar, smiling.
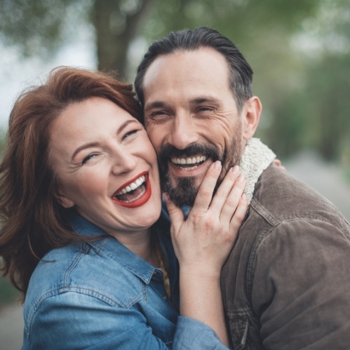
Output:
[[213,161],[239,164],[247,218],[222,269],[234,349],[350,349],[350,227],[337,209],[274,165],[253,138],[262,111],[253,71],[213,29],[170,33],[135,80],[161,182],[191,206]]

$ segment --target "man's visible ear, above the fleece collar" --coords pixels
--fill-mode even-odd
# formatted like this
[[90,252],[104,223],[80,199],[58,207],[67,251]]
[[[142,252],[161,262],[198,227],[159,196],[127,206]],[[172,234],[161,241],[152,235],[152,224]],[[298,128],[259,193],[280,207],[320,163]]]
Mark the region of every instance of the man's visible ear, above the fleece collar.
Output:
[[257,130],[260,114],[262,112],[262,104],[259,97],[253,96],[245,102],[243,107],[243,139],[250,140]]

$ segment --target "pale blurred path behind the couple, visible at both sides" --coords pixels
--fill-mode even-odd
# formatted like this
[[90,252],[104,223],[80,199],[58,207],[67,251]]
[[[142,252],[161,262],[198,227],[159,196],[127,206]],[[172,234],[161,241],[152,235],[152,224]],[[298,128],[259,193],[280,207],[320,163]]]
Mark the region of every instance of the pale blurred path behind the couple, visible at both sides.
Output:
[[[307,182],[350,220],[350,184],[342,176],[337,166],[323,163],[315,154],[300,154],[288,162],[283,162],[288,173]],[[19,350],[22,345],[22,307],[14,304],[0,310],[0,349]]]

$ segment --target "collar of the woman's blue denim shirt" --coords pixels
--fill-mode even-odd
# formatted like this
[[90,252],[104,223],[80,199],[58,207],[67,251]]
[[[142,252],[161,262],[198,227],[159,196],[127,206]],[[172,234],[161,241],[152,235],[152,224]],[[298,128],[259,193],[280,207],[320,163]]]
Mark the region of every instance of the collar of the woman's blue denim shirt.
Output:
[[98,254],[106,255],[121,264],[144,281],[144,283],[148,284],[151,281],[156,268],[126,248],[126,246],[117,241],[116,238],[110,236],[100,229],[100,227],[97,227],[92,222],[81,217],[75,210],[69,213],[67,222],[70,227],[72,227],[73,231],[80,236],[102,236],[87,244],[96,250]]

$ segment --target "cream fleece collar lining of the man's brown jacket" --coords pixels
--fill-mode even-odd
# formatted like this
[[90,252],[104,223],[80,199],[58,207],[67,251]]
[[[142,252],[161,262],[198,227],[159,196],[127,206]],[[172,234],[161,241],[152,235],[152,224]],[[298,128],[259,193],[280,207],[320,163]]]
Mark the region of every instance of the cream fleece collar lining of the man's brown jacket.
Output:
[[253,137],[248,140],[239,162],[241,172],[247,180],[244,193],[247,196],[248,203],[253,198],[257,180],[275,158],[276,154],[266,144],[263,144],[260,139]]

